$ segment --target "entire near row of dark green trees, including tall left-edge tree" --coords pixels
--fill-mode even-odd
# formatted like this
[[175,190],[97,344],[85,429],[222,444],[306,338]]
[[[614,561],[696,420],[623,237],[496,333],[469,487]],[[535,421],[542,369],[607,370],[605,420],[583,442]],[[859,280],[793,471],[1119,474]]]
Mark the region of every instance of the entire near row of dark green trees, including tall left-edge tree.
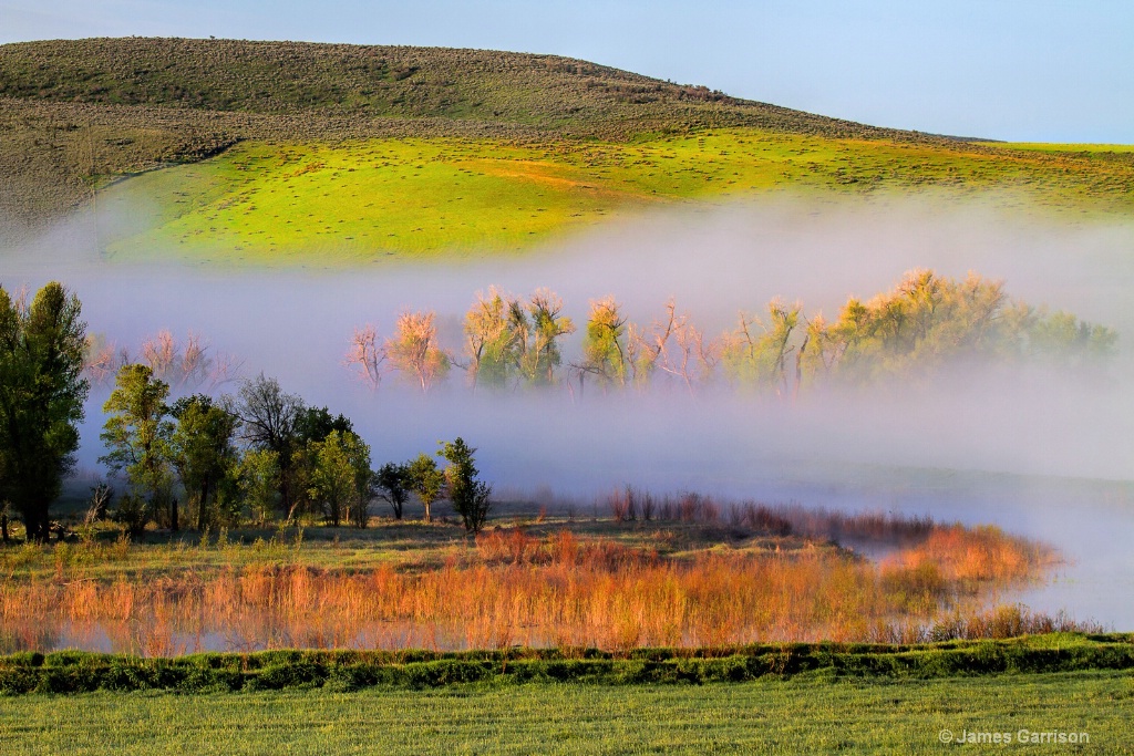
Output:
[[[90,342],[78,298],[62,284],[28,301],[0,287],[0,530],[9,512],[29,541],[51,537],[50,507],[73,470],[90,381]],[[271,377],[240,383],[232,396],[171,400],[170,384],[143,363],[117,369],[103,406],[100,461],[121,475],[115,517],[133,537],[151,524],[179,530],[266,525],[299,516],[365,527],[369,508],[387,501],[401,518],[416,498],[425,519],[447,499],[468,530],[480,530],[492,489],[480,479],[475,449],[441,442],[434,456],[371,469],[371,450],[349,418],[311,407]],[[445,465],[439,465],[438,459]],[[91,517],[115,492],[96,486]]]

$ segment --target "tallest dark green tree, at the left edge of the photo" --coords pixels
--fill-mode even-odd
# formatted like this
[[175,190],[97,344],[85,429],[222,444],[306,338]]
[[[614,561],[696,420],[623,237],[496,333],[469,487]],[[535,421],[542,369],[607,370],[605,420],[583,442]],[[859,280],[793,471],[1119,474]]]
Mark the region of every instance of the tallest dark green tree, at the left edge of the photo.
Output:
[[31,305],[0,287],[0,501],[19,512],[29,541],[50,537],[50,507],[74,467],[90,384],[86,324],[61,283]]

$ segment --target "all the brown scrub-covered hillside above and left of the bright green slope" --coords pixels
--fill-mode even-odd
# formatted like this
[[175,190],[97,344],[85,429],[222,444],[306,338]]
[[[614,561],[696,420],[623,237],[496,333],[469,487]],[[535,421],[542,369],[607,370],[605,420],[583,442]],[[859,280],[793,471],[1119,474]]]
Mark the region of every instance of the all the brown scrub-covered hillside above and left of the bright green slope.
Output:
[[0,218],[35,224],[122,173],[244,139],[625,141],[744,126],[919,139],[555,56],[229,40],[0,45]]

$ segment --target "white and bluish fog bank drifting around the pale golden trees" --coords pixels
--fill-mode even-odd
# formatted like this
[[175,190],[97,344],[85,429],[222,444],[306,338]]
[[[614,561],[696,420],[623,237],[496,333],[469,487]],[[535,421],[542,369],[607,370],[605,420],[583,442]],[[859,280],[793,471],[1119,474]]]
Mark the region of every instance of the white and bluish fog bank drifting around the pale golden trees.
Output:
[[[1024,597],[1033,609],[1134,629],[1134,224],[1041,222],[956,202],[765,201],[619,221],[515,260],[341,271],[108,262],[91,227],[78,218],[0,250],[0,283],[62,281],[91,332],[135,351],[161,329],[203,334],[243,358],[244,375],[263,371],[347,414],[375,465],[462,435],[484,476],[509,489],[585,498],[633,484],[997,523],[1073,562]],[[342,365],[355,326],[390,335],[405,309],[437,311],[446,346],[459,349],[464,313],[490,284],[517,295],[550,287],[579,326],[587,301],[604,295],[638,323],[676,297],[716,335],[738,309],[759,314],[776,296],[832,317],[848,296],[888,290],[914,267],[1004,279],[1014,298],[1116,329],[1119,354],[1100,375],[960,367],[925,385],[805,392],[794,404],[676,388],[473,394],[459,371],[423,398],[395,376],[371,391]],[[576,334],[567,358],[578,343]],[[92,392],[85,467],[101,453],[104,399]]]

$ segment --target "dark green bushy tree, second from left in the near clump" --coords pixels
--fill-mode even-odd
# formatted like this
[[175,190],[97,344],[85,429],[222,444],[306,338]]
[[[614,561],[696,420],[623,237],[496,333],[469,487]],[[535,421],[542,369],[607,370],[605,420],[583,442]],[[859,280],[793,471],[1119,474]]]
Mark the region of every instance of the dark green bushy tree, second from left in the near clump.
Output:
[[239,419],[205,394],[178,399],[170,414],[177,421],[169,442],[170,458],[187,503],[196,511],[197,529],[204,530],[223,482],[239,461],[235,445]]

